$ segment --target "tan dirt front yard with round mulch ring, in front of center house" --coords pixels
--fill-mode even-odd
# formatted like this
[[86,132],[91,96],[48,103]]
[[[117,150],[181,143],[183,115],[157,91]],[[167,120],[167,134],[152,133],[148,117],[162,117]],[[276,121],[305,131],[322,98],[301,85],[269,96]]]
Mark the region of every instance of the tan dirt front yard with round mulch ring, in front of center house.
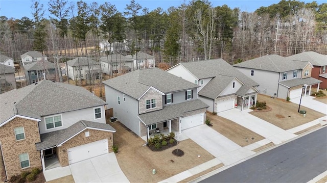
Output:
[[[120,122],[109,124],[116,129],[113,138],[114,144],[119,147],[116,154],[119,166],[130,182],[158,182],[215,158],[190,139],[163,151],[151,151],[144,140]],[[176,148],[183,150],[184,155],[173,155],[172,151]],[[223,164],[217,168],[221,166]],[[152,169],[156,170],[156,174],[152,174]]]

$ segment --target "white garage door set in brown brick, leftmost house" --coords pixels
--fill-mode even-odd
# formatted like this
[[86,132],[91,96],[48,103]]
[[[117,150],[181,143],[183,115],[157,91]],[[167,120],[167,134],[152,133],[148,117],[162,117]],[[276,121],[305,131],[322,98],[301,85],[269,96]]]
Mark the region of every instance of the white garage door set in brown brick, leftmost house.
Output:
[[107,139],[69,148],[68,160],[73,164],[105,153],[108,153]]

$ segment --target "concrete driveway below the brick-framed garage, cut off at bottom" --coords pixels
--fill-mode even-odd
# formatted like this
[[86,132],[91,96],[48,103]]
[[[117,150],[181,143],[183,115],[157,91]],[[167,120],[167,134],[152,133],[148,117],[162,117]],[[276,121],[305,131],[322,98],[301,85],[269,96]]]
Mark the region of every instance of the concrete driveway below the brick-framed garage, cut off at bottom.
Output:
[[113,152],[70,165],[76,183],[129,182]]

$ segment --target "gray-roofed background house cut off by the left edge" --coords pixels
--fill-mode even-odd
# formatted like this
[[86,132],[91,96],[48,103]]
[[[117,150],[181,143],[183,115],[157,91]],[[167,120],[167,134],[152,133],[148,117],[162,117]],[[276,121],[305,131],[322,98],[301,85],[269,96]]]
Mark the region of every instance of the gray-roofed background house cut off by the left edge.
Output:
[[16,88],[15,69],[11,66],[0,64],[0,93]]

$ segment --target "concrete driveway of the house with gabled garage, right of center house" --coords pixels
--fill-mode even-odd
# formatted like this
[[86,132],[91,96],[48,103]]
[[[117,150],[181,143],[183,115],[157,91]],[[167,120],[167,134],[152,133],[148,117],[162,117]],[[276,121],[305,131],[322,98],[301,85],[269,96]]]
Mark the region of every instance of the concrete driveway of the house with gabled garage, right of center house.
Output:
[[240,111],[238,109],[232,109],[218,113],[218,115],[252,130],[266,139],[269,139],[274,144],[285,142],[297,136],[249,114],[248,112],[250,111],[251,110]]

